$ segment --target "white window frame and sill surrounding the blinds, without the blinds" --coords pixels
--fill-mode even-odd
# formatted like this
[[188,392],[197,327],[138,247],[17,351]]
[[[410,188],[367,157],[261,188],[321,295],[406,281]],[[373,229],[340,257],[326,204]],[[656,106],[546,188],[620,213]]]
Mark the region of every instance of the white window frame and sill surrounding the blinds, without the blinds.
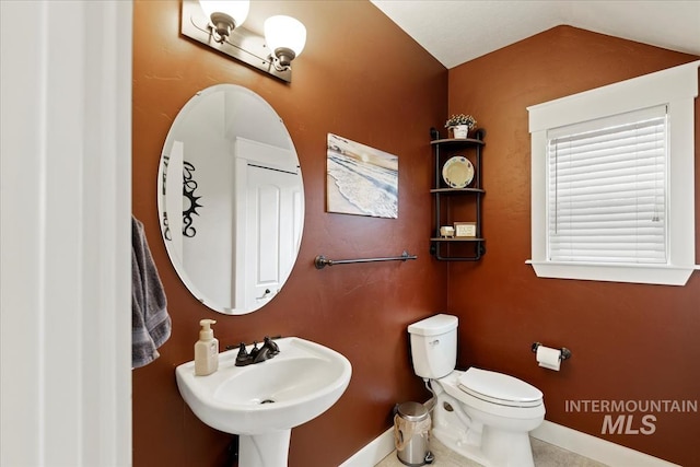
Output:
[[[532,259],[542,278],[685,285],[695,265],[695,98],[700,60],[527,107],[532,142]],[[667,261],[661,265],[551,261],[547,255],[550,129],[628,112],[668,108]]]

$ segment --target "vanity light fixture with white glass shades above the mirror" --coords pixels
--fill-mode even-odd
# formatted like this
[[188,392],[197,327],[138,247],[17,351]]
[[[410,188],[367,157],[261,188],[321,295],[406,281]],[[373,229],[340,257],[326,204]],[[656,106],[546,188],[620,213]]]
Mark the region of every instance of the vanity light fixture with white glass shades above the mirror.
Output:
[[183,0],[180,32],[280,80],[292,81],[291,62],[306,43],[306,28],[291,16],[265,21],[265,37],[242,26],[249,0]]

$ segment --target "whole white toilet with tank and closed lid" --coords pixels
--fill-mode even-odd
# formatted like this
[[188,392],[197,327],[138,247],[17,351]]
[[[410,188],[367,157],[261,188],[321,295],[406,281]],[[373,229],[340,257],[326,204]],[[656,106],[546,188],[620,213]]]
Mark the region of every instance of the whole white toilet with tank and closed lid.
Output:
[[455,370],[456,316],[431,316],[408,332],[413,370],[435,396],[433,435],[488,467],[533,467],[528,432],[545,419],[542,393],[502,373]]

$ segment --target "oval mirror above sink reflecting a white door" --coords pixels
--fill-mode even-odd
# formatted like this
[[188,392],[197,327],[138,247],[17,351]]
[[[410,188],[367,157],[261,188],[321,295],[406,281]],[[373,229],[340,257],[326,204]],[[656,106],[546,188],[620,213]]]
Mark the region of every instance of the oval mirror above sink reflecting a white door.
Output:
[[302,238],[304,189],[284,124],[234,84],[198,92],[167,133],[158,177],[173,267],[210,308],[250,313],[287,281]]

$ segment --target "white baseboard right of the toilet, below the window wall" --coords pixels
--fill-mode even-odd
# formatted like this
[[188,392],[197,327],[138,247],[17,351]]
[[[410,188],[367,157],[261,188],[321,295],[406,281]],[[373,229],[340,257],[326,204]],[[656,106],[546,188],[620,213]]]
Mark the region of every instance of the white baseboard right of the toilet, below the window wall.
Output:
[[679,467],[676,464],[545,420],[529,435],[609,466]]

